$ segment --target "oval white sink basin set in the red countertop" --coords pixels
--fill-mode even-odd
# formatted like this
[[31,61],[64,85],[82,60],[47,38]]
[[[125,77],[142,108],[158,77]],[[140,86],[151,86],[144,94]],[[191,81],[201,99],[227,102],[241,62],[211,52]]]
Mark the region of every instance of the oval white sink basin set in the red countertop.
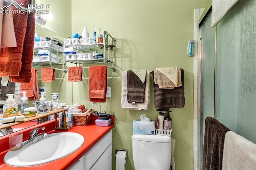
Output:
[[19,150],[8,151],[4,162],[10,166],[34,166],[51,162],[76,151],[84,143],[84,137],[74,132],[49,134],[38,142]]

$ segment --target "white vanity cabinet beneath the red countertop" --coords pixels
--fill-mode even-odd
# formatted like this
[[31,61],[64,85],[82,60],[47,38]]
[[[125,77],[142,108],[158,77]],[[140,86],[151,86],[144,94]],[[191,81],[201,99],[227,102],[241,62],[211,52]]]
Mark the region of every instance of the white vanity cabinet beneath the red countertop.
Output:
[[112,130],[70,168],[70,170],[81,169],[112,170]]

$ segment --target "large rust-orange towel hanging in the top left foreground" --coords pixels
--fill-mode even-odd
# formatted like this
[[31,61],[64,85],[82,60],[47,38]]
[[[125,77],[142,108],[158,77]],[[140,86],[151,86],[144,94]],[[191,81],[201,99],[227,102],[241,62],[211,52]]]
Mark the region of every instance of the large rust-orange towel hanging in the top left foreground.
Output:
[[[16,2],[27,6],[30,0],[17,0]],[[17,9],[12,6],[12,10]],[[1,49],[0,76],[10,75],[10,81],[29,83],[32,76],[31,64],[33,60],[35,17],[32,12],[30,14],[17,12],[12,17],[17,47]]]

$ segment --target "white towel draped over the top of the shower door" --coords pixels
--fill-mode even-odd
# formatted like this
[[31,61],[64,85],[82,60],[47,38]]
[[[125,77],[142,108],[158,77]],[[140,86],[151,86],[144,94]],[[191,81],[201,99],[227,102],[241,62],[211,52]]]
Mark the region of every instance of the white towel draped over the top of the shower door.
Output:
[[211,27],[216,26],[236,2],[238,2],[238,0],[212,0]]

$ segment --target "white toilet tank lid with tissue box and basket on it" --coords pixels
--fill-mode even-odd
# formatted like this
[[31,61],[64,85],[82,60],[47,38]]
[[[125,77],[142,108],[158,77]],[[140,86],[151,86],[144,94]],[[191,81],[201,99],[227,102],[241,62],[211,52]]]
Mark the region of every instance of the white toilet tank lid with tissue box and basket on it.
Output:
[[146,142],[159,142],[159,143],[170,143],[170,136],[162,136],[162,135],[150,135],[150,134],[133,134],[132,140],[140,140]]

